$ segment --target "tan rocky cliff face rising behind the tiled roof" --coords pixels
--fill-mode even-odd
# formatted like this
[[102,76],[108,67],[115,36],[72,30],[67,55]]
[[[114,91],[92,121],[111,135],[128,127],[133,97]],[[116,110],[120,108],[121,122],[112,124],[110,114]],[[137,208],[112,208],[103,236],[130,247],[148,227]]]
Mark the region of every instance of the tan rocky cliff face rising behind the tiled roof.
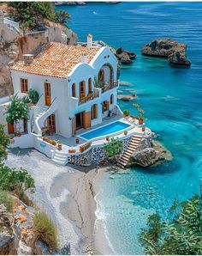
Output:
[[8,64],[22,59],[22,55],[38,52],[45,44],[56,41],[75,45],[77,36],[67,27],[51,25],[47,31],[22,35],[15,28],[0,22],[0,97],[13,94]]

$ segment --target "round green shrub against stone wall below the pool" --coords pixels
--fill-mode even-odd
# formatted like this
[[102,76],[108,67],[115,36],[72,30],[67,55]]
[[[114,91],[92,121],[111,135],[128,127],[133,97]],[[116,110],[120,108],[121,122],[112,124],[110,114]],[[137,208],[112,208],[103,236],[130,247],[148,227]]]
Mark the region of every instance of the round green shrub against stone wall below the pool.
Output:
[[104,143],[104,150],[108,157],[115,157],[123,149],[123,143],[118,138],[112,137],[109,143]]

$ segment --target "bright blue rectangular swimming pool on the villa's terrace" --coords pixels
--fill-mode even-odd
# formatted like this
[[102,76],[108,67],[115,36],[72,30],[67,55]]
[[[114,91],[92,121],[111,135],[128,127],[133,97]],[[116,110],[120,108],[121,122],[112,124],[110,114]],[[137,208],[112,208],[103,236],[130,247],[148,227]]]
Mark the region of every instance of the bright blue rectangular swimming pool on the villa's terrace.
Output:
[[121,121],[116,121],[111,123],[110,125],[104,125],[100,128],[97,128],[95,130],[92,131],[88,131],[86,133],[80,134],[80,137],[86,139],[86,140],[90,140],[94,137],[101,137],[104,135],[109,135],[111,133],[114,133],[116,131],[122,131],[126,128],[128,128],[131,125],[128,125],[126,123],[123,123]]

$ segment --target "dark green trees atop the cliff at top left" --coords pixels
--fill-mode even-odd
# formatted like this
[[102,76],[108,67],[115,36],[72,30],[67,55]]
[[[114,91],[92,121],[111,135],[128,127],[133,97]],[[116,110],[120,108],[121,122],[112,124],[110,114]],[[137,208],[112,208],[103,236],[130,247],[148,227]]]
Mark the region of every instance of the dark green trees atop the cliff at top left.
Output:
[[9,15],[20,22],[21,28],[36,28],[45,26],[47,20],[65,24],[69,15],[61,10],[55,12],[51,2],[9,2]]

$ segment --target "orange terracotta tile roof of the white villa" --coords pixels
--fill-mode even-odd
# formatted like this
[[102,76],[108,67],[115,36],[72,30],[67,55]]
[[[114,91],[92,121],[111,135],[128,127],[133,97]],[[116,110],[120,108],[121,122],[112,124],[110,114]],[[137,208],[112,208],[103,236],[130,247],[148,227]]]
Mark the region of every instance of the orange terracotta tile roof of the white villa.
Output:
[[28,74],[66,78],[74,66],[80,63],[81,55],[87,55],[90,63],[99,50],[98,47],[87,48],[51,43],[33,59],[33,64],[26,65],[24,61],[18,61],[9,69]]

